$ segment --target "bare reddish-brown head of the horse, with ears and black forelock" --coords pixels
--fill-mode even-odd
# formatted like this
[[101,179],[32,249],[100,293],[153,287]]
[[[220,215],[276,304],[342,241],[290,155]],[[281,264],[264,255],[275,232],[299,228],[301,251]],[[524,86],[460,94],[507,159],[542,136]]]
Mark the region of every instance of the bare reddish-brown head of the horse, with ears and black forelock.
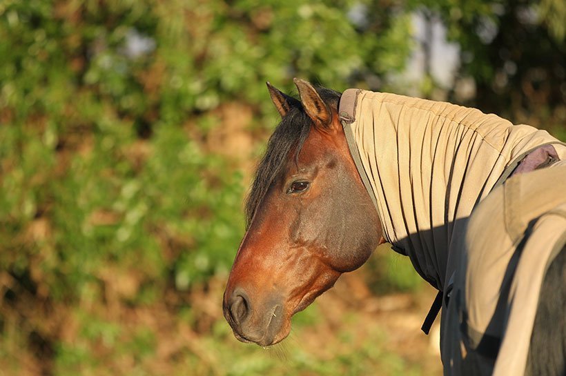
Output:
[[223,302],[235,337],[262,346],[289,335],[291,317],[364,264],[382,235],[340,123],[340,94],[295,79],[299,101],[267,85],[282,121],[257,168]]

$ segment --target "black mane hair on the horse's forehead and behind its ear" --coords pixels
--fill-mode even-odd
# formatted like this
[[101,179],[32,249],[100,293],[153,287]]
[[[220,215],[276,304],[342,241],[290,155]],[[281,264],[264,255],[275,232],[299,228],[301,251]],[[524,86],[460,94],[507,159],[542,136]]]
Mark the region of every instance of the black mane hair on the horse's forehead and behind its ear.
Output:
[[[322,88],[315,88],[318,95],[331,108],[337,109],[340,101],[340,92]],[[260,206],[264,195],[275,179],[282,173],[283,166],[289,158],[291,150],[295,150],[295,159],[311,131],[311,119],[301,108],[291,108],[283,117],[273,135],[269,138],[267,150],[255,172],[255,179],[250,193],[246,199],[246,228]]]

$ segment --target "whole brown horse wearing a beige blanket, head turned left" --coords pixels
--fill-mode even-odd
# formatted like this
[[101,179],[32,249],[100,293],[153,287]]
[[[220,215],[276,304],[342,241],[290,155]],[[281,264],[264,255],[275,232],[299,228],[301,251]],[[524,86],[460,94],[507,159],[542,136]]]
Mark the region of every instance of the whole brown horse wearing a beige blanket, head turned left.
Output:
[[565,144],[473,108],[294,82],[299,99],[267,83],[282,119],[224,292],[235,337],[281,342],[389,242],[439,291],[422,329],[442,309],[445,375],[565,375]]

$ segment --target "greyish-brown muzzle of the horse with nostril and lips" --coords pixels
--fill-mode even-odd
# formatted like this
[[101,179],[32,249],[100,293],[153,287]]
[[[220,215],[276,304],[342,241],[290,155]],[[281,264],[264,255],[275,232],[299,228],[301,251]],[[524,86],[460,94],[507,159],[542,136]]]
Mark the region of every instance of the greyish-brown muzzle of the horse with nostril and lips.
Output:
[[224,293],[223,308],[226,321],[242,342],[270,346],[286,337],[278,335],[284,322],[280,299],[252,303],[244,289],[235,288],[232,293]]

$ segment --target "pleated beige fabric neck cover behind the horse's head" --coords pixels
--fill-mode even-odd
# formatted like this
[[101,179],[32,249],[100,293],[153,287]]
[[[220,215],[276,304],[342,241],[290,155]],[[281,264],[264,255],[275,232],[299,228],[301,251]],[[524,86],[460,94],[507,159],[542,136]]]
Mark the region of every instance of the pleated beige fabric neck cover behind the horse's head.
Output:
[[[534,128],[449,103],[362,92],[351,124],[384,235],[443,288],[462,221]],[[536,144],[532,139],[530,144]]]

